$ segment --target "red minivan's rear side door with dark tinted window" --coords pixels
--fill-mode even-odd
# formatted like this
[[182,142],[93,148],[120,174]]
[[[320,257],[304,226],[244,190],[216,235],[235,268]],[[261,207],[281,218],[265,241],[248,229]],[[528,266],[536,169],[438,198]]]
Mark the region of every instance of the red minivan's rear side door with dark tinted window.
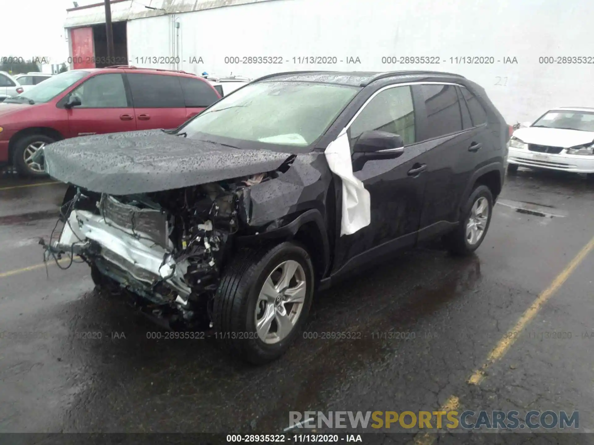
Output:
[[179,76],[128,71],[126,77],[138,130],[177,128],[185,122],[186,107]]

